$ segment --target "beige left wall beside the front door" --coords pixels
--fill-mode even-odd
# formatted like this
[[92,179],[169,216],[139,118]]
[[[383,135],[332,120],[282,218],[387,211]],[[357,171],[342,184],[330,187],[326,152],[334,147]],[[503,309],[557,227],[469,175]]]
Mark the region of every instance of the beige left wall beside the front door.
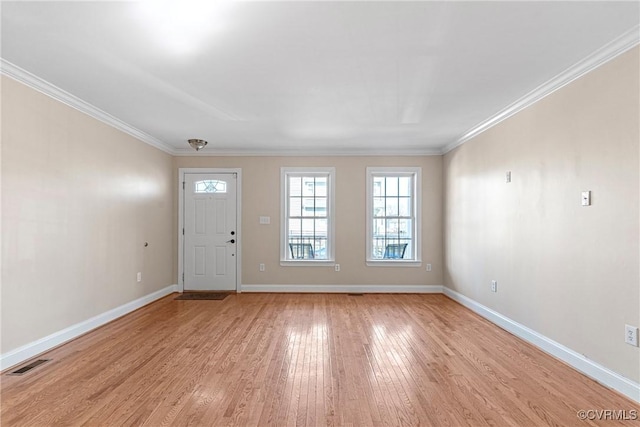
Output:
[[170,155],[3,77],[0,352],[175,283],[174,188]]

